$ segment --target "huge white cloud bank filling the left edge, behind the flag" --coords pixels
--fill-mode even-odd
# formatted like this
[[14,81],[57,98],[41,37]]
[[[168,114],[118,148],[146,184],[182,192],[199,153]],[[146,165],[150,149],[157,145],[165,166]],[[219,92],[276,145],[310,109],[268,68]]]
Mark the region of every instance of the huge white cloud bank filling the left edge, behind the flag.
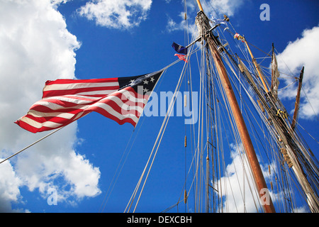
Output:
[[[62,2],[0,0],[1,158],[45,135],[29,133],[13,123],[40,99],[45,81],[74,78],[74,51],[80,44],[56,10],[55,4]],[[11,201],[23,199],[22,186],[42,196],[55,187],[61,199],[99,194],[99,168],[75,152],[76,134],[77,123],[72,123],[2,163],[0,172],[6,174],[0,175],[1,209],[9,211]]]

